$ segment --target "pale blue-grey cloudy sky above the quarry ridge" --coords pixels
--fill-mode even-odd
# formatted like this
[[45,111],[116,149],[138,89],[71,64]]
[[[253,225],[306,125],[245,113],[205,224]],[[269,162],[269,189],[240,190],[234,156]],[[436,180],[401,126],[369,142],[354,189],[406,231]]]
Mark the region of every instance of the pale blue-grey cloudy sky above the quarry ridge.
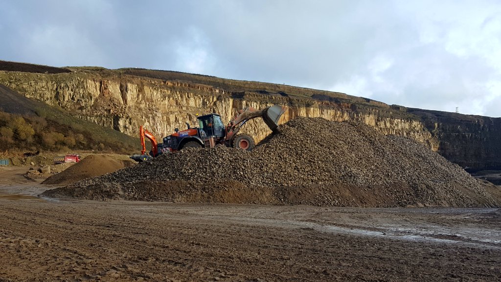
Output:
[[501,1],[0,0],[0,59],[285,83],[501,116]]

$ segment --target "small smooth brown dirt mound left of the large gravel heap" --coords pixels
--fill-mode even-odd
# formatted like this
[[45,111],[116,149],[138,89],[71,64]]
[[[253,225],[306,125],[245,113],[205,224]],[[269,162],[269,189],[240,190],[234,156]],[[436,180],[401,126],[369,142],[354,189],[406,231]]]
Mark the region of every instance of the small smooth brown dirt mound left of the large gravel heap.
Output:
[[132,165],[129,161],[119,161],[109,156],[90,155],[68,169],[47,178],[42,184],[68,185],[74,182],[115,172]]

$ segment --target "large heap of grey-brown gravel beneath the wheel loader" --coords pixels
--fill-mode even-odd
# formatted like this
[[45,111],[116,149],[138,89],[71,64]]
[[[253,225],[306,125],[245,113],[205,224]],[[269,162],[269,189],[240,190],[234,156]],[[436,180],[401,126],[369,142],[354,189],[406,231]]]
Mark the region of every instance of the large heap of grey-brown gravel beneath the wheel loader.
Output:
[[[498,190],[498,189],[497,189]],[[185,149],[47,196],[322,206],[499,206],[495,186],[411,139],[296,118],[252,152]]]

